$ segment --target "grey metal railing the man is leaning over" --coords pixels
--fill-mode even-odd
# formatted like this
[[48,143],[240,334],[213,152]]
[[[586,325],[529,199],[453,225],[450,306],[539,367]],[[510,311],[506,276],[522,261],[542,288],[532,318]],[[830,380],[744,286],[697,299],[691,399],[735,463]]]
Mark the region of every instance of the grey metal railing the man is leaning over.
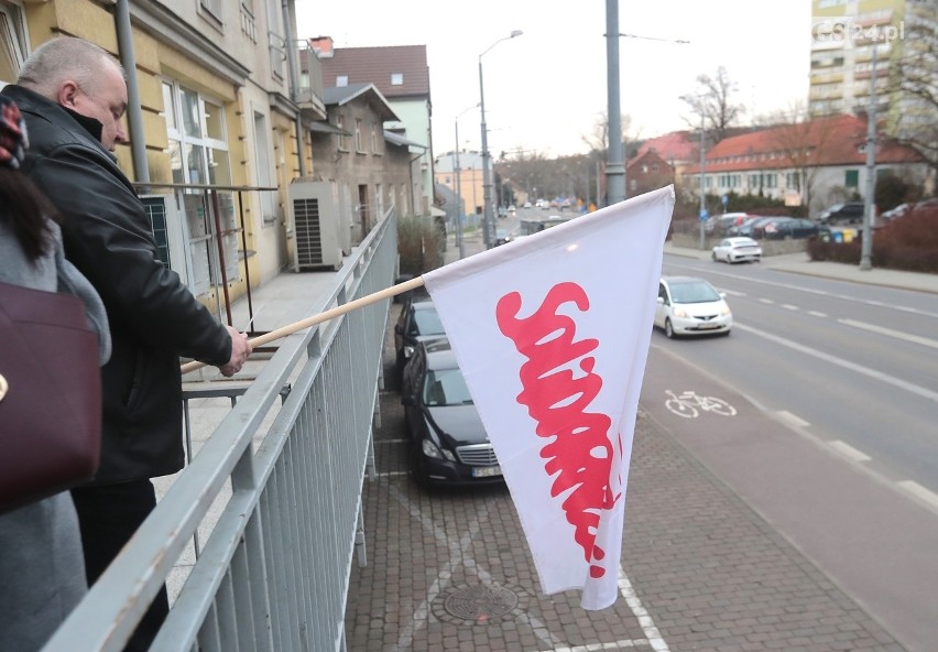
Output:
[[[390,286],[396,267],[392,209],[315,308]],[[121,650],[226,496],[151,650],[345,650],[357,546],[364,561],[361,491],[366,471],[374,476],[389,304],[281,341],[45,652]]]

